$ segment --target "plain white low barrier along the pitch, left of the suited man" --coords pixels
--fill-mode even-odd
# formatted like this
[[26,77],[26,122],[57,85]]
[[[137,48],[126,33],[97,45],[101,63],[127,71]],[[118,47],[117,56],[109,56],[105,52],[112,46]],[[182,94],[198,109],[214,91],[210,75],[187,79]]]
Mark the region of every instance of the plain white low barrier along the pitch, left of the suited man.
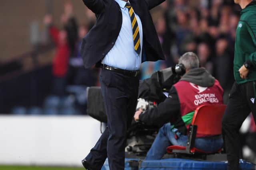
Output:
[[89,116],[0,116],[0,164],[82,166],[100,137]]

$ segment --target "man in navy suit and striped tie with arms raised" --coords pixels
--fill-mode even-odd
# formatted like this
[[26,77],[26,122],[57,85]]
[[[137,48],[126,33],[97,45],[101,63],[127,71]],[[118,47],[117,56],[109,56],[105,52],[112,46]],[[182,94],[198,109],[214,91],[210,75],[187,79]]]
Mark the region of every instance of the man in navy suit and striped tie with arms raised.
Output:
[[144,61],[164,60],[149,10],[164,0],[83,0],[96,14],[96,24],[82,40],[86,68],[101,67],[100,83],[108,126],[82,160],[100,170],[108,157],[110,170],[124,169],[126,130],[138,97],[138,70]]

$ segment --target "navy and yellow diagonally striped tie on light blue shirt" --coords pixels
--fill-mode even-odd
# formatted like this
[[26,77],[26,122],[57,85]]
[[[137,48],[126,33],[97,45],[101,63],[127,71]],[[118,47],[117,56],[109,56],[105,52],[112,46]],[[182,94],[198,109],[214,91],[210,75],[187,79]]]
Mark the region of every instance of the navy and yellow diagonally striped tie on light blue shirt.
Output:
[[139,32],[139,26],[136,20],[136,16],[133,12],[132,6],[129,2],[125,5],[126,8],[129,10],[131,22],[132,22],[132,33],[133,33],[133,42],[134,42],[134,50],[138,55],[140,55],[140,32]]

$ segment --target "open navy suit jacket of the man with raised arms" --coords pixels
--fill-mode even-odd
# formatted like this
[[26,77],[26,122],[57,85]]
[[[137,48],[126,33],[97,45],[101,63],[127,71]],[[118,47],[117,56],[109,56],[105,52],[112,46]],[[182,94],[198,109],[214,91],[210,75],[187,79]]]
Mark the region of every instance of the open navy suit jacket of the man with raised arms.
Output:
[[[122,27],[122,12],[115,0],[83,0],[84,4],[96,14],[97,21],[82,39],[81,54],[86,68],[96,64],[114,46]],[[134,12],[140,17],[143,29],[142,62],[164,60],[150,10],[164,0],[129,0]]]

